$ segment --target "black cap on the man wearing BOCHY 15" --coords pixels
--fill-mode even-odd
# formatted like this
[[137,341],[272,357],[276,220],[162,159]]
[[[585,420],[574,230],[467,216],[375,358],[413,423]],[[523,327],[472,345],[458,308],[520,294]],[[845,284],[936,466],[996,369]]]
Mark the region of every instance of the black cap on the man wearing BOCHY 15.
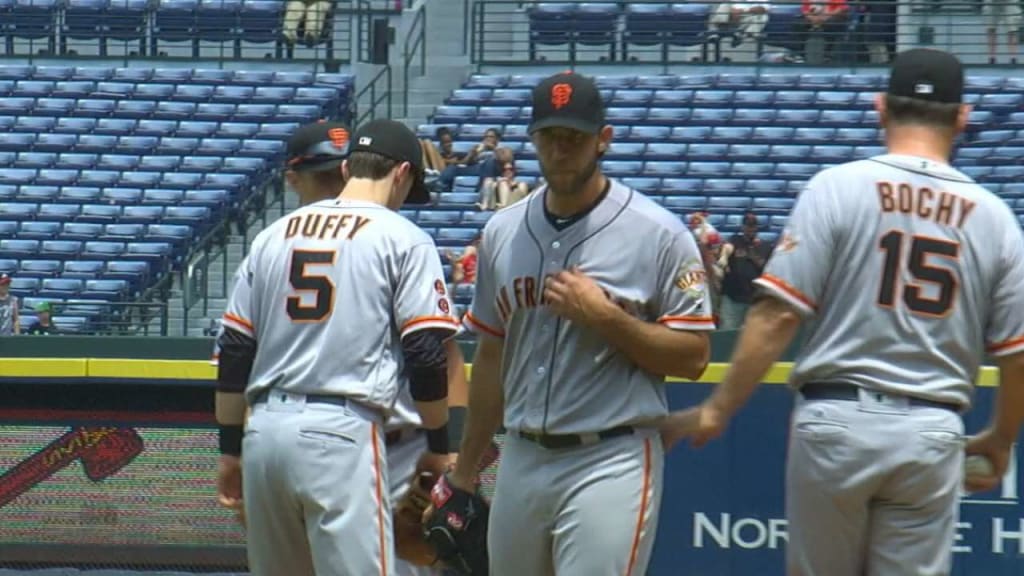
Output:
[[896,55],[889,94],[941,104],[964,101],[964,65],[942,50],[914,48]]

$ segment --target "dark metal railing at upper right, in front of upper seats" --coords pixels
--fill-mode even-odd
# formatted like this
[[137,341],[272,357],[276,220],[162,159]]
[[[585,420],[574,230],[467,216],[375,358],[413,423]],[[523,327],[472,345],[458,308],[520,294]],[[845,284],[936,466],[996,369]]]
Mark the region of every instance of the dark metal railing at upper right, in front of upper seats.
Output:
[[[470,56],[478,66],[859,67],[885,65],[898,50],[934,47],[957,54],[968,65],[1017,65],[1016,54],[1007,53],[1007,40],[1020,31],[1004,23],[1014,18],[1000,19],[980,0],[846,0],[844,15],[814,30],[801,2],[765,2],[760,24],[729,20],[726,14],[719,14],[725,16],[719,24],[719,5],[476,0],[470,7]],[[995,28],[996,53],[989,53],[990,27]]]

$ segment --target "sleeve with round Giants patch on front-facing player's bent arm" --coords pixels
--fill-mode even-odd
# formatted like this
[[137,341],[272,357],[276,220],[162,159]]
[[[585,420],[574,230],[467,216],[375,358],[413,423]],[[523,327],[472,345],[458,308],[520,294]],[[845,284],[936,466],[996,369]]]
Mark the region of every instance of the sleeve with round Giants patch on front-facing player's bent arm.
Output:
[[657,262],[657,322],[673,330],[714,330],[708,270],[693,235],[674,231]]

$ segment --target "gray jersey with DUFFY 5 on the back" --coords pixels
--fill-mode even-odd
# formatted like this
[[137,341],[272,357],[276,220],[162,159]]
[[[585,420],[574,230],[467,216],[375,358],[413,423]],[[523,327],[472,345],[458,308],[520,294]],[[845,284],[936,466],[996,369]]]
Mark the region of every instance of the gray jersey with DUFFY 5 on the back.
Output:
[[377,204],[299,208],[256,237],[244,264],[223,322],[258,342],[250,402],[273,386],[388,413],[406,386],[401,337],[458,329],[433,239]]

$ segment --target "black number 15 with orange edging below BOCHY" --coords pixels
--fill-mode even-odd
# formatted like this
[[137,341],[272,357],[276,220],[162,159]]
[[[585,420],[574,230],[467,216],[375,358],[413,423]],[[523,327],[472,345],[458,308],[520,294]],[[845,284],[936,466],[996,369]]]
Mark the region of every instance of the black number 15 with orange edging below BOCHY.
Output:
[[[879,305],[891,308],[896,303],[900,284],[900,269],[907,266],[913,282],[903,286],[903,303],[910,312],[933,317],[943,317],[953,307],[956,297],[956,274],[951,266],[929,263],[929,256],[947,258],[955,261],[959,258],[959,243],[929,238],[925,236],[910,237],[910,254],[904,264],[903,238],[906,236],[898,230],[889,232],[882,237],[879,248],[886,253],[882,269],[882,286],[879,288]],[[934,298],[923,294],[923,283],[938,288]]]

